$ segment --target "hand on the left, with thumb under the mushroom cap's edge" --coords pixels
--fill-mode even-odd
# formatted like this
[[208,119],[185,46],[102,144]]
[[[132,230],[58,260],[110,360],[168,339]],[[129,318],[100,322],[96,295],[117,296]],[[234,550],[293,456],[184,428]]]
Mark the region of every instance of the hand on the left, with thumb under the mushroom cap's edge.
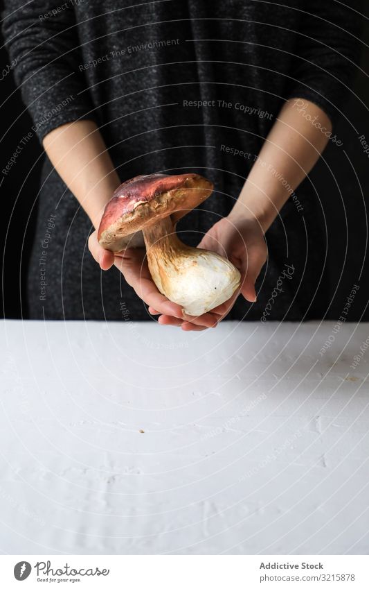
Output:
[[160,314],[158,321],[162,325],[188,324],[195,331],[217,325],[218,318],[213,312],[201,315],[201,318],[187,316],[180,305],[159,292],[147,266],[145,248],[127,248],[114,254],[100,246],[97,231],[94,231],[89,237],[89,250],[102,270],[109,270],[114,264],[123,273],[129,286],[149,306],[149,311],[153,315]]

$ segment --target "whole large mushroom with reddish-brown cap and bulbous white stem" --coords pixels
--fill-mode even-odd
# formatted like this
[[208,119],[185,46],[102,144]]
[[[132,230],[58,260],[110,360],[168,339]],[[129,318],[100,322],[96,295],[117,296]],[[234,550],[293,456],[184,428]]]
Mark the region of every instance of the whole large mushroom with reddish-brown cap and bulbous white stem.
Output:
[[240,286],[240,272],[228,259],[186,246],[175,232],[177,221],[212,191],[195,173],[136,176],[116,189],[98,229],[100,245],[115,253],[144,240],[156,287],[192,316],[221,305]]

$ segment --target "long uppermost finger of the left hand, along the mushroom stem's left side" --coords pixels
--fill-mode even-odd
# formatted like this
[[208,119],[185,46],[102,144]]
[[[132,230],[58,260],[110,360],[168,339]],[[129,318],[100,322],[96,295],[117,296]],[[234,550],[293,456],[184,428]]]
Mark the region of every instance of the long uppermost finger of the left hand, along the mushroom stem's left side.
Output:
[[183,318],[182,308],[175,302],[159,293],[154,282],[150,278],[144,278],[139,264],[132,263],[132,259],[118,258],[114,261],[116,266],[124,275],[125,280],[136,294],[149,307],[153,307],[163,315],[170,315],[179,319]]

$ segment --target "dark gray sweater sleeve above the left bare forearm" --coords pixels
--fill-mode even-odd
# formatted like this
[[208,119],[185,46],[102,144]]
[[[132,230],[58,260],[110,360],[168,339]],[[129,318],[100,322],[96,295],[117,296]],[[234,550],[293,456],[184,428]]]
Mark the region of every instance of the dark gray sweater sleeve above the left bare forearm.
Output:
[[51,130],[77,119],[95,119],[78,70],[79,41],[71,3],[6,0],[3,35],[15,63],[15,82],[40,141]]

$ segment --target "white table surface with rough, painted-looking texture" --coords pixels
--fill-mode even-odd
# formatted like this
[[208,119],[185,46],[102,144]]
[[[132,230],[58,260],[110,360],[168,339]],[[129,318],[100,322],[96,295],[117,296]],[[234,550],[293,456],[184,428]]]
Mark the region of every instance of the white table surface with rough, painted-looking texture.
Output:
[[369,325],[333,328],[0,323],[0,551],[368,554]]

